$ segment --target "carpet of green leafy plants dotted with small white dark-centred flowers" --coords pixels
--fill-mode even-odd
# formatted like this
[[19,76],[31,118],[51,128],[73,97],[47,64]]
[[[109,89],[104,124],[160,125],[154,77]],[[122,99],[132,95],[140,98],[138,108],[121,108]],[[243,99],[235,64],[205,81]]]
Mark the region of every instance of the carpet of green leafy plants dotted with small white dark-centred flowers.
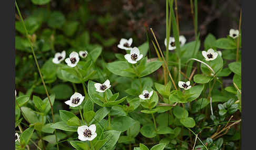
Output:
[[[28,3],[34,9],[21,12]],[[87,1],[70,14],[56,3],[15,1],[15,149],[240,148],[241,16],[225,37],[202,41],[190,1],[188,41],[176,0],[166,0],[166,33],[145,24],[136,45],[90,34]],[[106,33],[110,20],[97,19]]]

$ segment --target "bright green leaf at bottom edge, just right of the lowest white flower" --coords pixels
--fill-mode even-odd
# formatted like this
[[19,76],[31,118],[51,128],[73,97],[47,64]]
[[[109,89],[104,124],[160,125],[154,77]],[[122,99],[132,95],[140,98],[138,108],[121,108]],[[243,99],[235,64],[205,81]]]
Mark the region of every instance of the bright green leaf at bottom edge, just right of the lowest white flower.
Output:
[[105,131],[105,132],[103,133],[103,138],[104,138],[105,140],[107,140],[107,142],[106,142],[105,145],[101,148],[101,150],[109,150],[109,149],[112,149],[112,148],[115,146],[115,144],[116,144],[116,142],[117,142],[117,140],[118,140],[120,134],[121,134],[121,131],[114,131],[114,130]]

